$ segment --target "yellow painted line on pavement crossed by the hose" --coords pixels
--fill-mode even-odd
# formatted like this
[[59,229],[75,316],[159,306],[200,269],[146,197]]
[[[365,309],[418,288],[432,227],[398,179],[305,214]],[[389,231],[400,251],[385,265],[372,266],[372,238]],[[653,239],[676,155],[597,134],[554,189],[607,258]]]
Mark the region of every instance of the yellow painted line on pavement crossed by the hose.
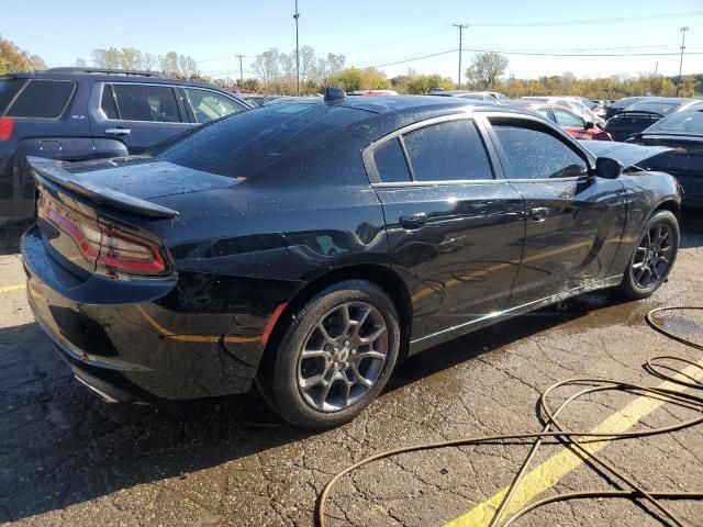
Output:
[[[689,366],[677,374],[674,379],[689,380],[691,378],[699,381],[703,380],[703,359],[698,362],[696,366]],[[687,379],[688,378],[688,379]],[[657,388],[673,390],[677,392],[683,392],[687,386],[682,384],[676,384],[670,381],[662,382]],[[624,408],[615,412],[613,415],[603,421],[593,430],[595,433],[621,433],[635,426],[647,415],[655,412],[657,408],[666,404],[665,400],[651,399],[647,396],[639,396],[633,400]],[[610,444],[610,440],[587,442],[581,446],[590,453],[595,453]],[[583,463],[583,460],[573,453],[571,450],[565,449],[551,456],[549,459],[537,466],[531,472],[525,474],[521,481],[512,500],[510,501],[503,519],[507,518],[511,514],[522,509],[525,505],[533,501],[534,497],[550,489],[567,475],[572,470],[579,468]],[[468,513],[459,516],[458,518],[449,522],[445,527],[483,527],[490,524],[493,518],[493,514],[500,506],[501,502],[505,497],[509,487],[504,487],[486,502],[477,505]]]

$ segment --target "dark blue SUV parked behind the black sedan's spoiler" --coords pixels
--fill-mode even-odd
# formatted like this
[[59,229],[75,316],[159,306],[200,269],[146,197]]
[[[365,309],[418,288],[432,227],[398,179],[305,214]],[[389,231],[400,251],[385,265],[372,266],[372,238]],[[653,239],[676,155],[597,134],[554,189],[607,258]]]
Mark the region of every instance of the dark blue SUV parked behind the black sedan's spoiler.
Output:
[[0,76],[0,224],[32,217],[27,156],[77,161],[141,154],[250,106],[220,88],[158,74],[53,68]]

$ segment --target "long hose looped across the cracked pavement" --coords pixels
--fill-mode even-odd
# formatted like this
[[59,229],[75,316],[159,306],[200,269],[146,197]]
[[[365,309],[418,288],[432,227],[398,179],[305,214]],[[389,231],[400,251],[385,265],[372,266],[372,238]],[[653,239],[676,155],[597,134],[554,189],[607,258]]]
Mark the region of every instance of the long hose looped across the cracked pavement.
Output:
[[[662,335],[677,340],[681,344],[690,346],[695,349],[703,350],[703,345],[693,343],[687,338],[680,337],[678,335],[672,334],[659,323],[657,323],[654,318],[654,315],[657,313],[666,312],[666,311],[703,311],[703,307],[698,306],[680,306],[680,307],[659,307],[656,310],[651,310],[647,313],[645,319],[647,324],[649,324],[655,330],[661,333]],[[665,379],[671,383],[680,384],[687,388],[692,388],[696,390],[703,389],[703,383],[698,381],[695,378],[684,375],[684,373],[680,370],[676,370],[674,368],[667,366],[665,362],[681,362],[684,365],[696,367],[701,370],[703,368],[701,365],[693,362],[688,359],[683,359],[674,356],[659,356],[654,357],[647,360],[645,365],[645,369],[661,379]],[[665,372],[665,370],[676,371],[677,374],[670,374]],[[681,377],[688,377],[690,380],[683,380]],[[557,389],[566,386],[566,385],[589,385],[589,388],[584,388],[579,392],[574,393],[570,397],[568,397],[563,403],[561,403],[556,410],[553,410],[549,404],[549,395]],[[659,428],[650,428],[643,431],[622,431],[622,433],[594,433],[594,431],[578,431],[578,430],[567,430],[563,428],[561,423],[557,421],[557,416],[561,413],[563,408],[566,408],[573,401],[582,397],[585,394],[594,393],[594,392],[603,392],[603,391],[620,391],[628,394],[638,394],[645,395],[652,399],[665,400],[668,403],[678,404],[690,410],[698,411],[701,413],[700,417],[692,418],[685,422],[681,422],[670,426],[663,426]],[[662,517],[657,517],[658,519],[666,519],[665,525],[676,525],[679,527],[683,527],[683,523],[671,512],[669,511],[660,500],[703,500],[703,491],[700,492],[657,492],[657,491],[646,491],[640,485],[638,485],[635,481],[633,481],[627,474],[625,474],[622,470],[617,469],[610,462],[603,460],[601,457],[596,456],[594,452],[589,451],[585,448],[585,445],[589,442],[598,442],[603,439],[610,440],[622,440],[622,439],[633,439],[633,438],[641,438],[647,436],[656,436],[661,434],[668,434],[676,430],[681,430],[683,428],[693,427],[703,423],[703,397],[699,395],[694,395],[691,393],[682,393],[676,390],[670,390],[666,388],[654,388],[654,386],[641,386],[638,384],[612,381],[607,379],[591,379],[591,378],[579,378],[579,379],[569,379],[566,381],[559,381],[555,384],[551,384],[547,388],[539,397],[539,410],[544,414],[545,417],[545,426],[542,431],[537,433],[527,433],[527,434],[503,434],[503,435],[493,435],[493,436],[477,436],[477,437],[465,437],[460,439],[454,439],[449,441],[438,441],[438,442],[428,442],[422,445],[413,445],[409,447],[394,448],[391,450],[387,450],[383,452],[375,453],[365,458],[354,464],[348,466],[341,472],[334,475],[327,484],[324,486],[320,495],[317,496],[317,503],[315,508],[315,525],[317,527],[325,527],[325,505],[327,498],[330,496],[330,492],[337,484],[339,479],[344,475],[353,472],[365,464],[368,464],[372,461],[377,461],[379,459],[388,458],[391,456],[397,456],[399,453],[406,452],[416,452],[421,450],[431,450],[436,448],[446,448],[446,447],[460,447],[467,445],[483,445],[483,444],[495,444],[505,441],[528,441],[533,440],[532,448],[527,453],[527,457],[521,464],[517,473],[513,478],[513,481],[503,497],[499,508],[493,514],[493,518],[489,524],[489,527],[496,527],[500,525],[501,519],[503,518],[505,511],[510,504],[510,501],[513,496],[515,489],[520,485],[523,476],[527,472],[529,463],[534,459],[537,453],[538,448],[542,446],[544,439],[554,438],[560,441],[566,448],[571,449],[574,453],[584,459],[585,462],[591,464],[592,467],[598,467],[600,473],[605,474],[610,473],[615,480],[617,480],[616,484],[621,487],[617,491],[588,491],[588,492],[569,492],[562,493],[555,496],[550,496],[544,500],[539,500],[537,502],[533,502],[529,505],[526,505],[517,513],[515,513],[512,517],[505,520],[502,525],[503,527],[507,527],[517,518],[524,516],[525,514],[550,503],[565,502],[568,500],[590,500],[590,498],[626,498],[633,501],[644,501],[651,505],[654,509],[659,512]]]

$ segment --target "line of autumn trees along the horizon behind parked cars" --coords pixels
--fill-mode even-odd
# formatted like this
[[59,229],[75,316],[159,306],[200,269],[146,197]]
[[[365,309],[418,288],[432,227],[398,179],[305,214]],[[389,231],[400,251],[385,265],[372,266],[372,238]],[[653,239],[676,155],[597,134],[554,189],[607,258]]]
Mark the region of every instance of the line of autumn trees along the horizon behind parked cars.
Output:
[[[234,57],[234,55],[233,55]],[[263,93],[295,94],[295,52],[270,48],[254,57],[247,68],[247,77],[241,78],[238,69],[226,76],[202,72],[194,58],[169,52],[155,55],[134,47],[108,47],[93,49],[90,61],[76,60],[77,67],[93,66],[108,69],[160,71],[183,79],[211,82],[226,88],[244,88]],[[507,97],[523,96],[579,96],[591,99],[620,99],[628,96],[672,97],[677,92],[677,78],[641,74],[617,75],[600,78],[578,78],[565,72],[542,76],[536,79],[506,78],[509,59],[499,53],[478,53],[465,71],[462,88],[469,90],[500,91]],[[38,55],[19,49],[12,42],[0,36],[0,74],[46,69]],[[301,93],[319,93],[325,87],[346,91],[364,89],[392,89],[400,93],[423,94],[431,90],[451,90],[456,83],[437,74],[417,74],[409,69],[402,75],[388,78],[378,68],[347,67],[346,57],[327,53],[317,55],[311,46],[300,48]],[[703,92],[703,74],[685,75],[681,78],[680,97],[693,97]]]

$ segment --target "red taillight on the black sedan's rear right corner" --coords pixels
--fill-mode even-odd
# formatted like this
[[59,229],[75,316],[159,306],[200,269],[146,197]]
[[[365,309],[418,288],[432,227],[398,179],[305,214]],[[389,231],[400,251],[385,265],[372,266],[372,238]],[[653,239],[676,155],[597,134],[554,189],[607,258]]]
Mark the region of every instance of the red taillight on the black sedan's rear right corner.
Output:
[[158,247],[152,242],[99,224],[79,212],[48,203],[44,198],[37,201],[37,213],[70,236],[81,255],[99,268],[130,274],[164,274],[166,271]]

